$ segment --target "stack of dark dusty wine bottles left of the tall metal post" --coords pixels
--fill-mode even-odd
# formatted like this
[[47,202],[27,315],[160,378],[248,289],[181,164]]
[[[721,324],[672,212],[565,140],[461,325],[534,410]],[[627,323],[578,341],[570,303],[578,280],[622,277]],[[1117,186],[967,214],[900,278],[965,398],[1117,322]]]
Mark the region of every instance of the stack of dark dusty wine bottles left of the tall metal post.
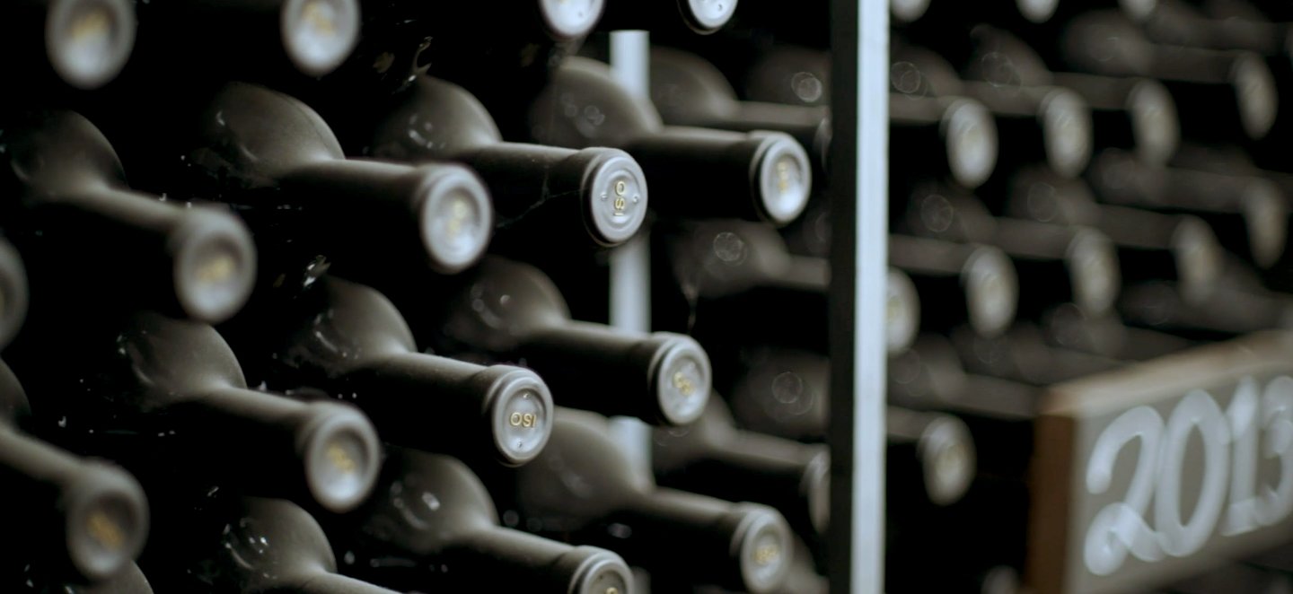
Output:
[[715,387],[821,351],[829,119],[606,62],[756,6],[9,4],[0,591],[825,591],[828,448]]

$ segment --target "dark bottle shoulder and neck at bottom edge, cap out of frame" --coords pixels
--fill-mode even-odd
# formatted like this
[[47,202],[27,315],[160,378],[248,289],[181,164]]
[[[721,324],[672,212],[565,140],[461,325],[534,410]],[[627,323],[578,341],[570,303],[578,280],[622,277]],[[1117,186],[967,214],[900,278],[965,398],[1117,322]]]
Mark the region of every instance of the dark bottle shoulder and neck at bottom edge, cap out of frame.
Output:
[[164,519],[144,558],[162,591],[394,594],[337,573],[323,528],[290,501],[216,497]]

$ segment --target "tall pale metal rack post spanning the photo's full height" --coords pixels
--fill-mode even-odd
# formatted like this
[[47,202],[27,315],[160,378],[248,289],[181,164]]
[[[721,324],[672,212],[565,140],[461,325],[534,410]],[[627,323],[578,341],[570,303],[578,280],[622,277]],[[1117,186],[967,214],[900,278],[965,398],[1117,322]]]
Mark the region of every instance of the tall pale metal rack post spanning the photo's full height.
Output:
[[888,1],[831,1],[831,535],[835,593],[884,584]]

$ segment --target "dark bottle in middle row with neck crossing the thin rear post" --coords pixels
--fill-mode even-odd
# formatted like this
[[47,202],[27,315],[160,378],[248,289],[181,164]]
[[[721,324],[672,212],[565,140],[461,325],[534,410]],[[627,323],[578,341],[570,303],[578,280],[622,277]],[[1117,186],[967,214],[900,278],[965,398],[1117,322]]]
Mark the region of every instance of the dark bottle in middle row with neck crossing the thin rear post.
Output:
[[423,347],[524,364],[559,405],[662,425],[687,425],[705,411],[712,371],[700,343],[572,320],[561,293],[533,266],[491,256],[463,274],[388,294]]

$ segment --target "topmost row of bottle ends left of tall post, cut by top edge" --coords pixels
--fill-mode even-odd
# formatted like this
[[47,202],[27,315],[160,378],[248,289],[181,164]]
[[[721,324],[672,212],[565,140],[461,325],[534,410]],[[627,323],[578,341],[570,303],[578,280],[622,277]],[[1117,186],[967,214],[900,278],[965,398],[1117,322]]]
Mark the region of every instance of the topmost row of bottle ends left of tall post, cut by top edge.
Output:
[[[132,59],[182,63],[173,53],[187,54],[193,65],[212,62],[224,72],[323,76],[345,65],[357,49],[362,54],[361,39],[374,32],[370,27],[380,27],[383,34],[398,31],[405,39],[467,34],[454,40],[458,49],[465,49],[463,39],[491,30],[547,43],[623,28],[705,35],[727,26],[736,6],[736,1],[710,0],[676,5],[534,1],[495,14],[475,5],[431,8],[416,1],[375,0],[167,0],[138,5],[128,0],[23,0],[5,8],[3,31],[6,53],[41,56],[8,66],[9,74],[27,79],[23,83],[96,89]],[[229,39],[229,30],[244,35]],[[502,43],[518,49],[517,41]]]

